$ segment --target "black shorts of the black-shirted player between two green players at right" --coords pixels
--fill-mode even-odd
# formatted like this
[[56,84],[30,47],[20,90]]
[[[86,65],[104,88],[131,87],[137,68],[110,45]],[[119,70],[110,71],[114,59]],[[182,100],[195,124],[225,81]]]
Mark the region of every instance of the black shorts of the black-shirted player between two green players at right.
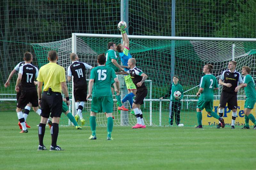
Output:
[[227,103],[228,109],[237,109],[237,95],[222,91],[220,95],[220,107],[225,108]]

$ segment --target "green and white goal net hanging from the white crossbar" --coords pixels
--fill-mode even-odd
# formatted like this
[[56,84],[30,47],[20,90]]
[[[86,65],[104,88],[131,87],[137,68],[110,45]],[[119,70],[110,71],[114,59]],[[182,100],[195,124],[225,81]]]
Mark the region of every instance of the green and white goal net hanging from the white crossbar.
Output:
[[[87,37],[86,37],[87,36]],[[97,66],[97,56],[101,53],[106,53],[108,42],[121,43],[121,35],[116,35],[115,38],[104,37],[89,37],[88,35],[79,34],[73,41],[72,38],[43,44],[32,44],[35,50],[37,61],[40,66],[47,63],[47,52],[49,50],[56,50],[59,55],[58,64],[63,66],[66,70],[71,64],[70,53],[76,52],[81,62],[85,62],[91,66]],[[100,36],[100,35],[99,35]],[[111,36],[111,35],[110,35]],[[129,36],[131,37],[131,36]],[[148,36],[146,39],[130,38],[130,50],[132,57],[137,60],[136,66],[148,75],[146,86],[148,87],[148,96],[145,98],[144,104],[141,106],[143,117],[146,125],[152,126],[166,126],[169,125],[169,98],[159,100],[168,93],[168,89],[172,82],[171,77],[171,50],[175,49],[175,75],[179,76],[179,82],[183,86],[184,97],[181,100],[180,123],[185,126],[197,125],[196,118],[196,92],[200,79],[203,76],[202,68],[204,64],[210,63],[214,66],[212,74],[219,77],[224,70],[228,69],[228,62],[235,59],[237,62],[236,70],[241,71],[242,66],[249,66],[252,68],[251,75],[256,73],[255,57],[256,57],[256,43],[255,42],[237,42],[235,41],[195,41],[191,40],[161,40],[153,39]],[[204,40],[203,38],[201,38]],[[117,53],[118,55],[118,53]],[[119,60],[120,63],[120,60]],[[86,71],[86,78],[89,80],[90,70]],[[255,77],[256,78],[256,77]],[[121,84],[125,84],[122,77],[119,77]],[[125,85],[124,85],[125,86]],[[127,93],[124,86],[121,86],[122,94]],[[219,99],[222,87],[215,91],[214,111],[217,112],[219,106]],[[72,83],[68,83],[69,94],[72,94]],[[116,109],[116,100],[113,96],[114,107],[114,125],[133,125],[136,123],[136,118],[130,114],[130,111],[121,112],[119,114]],[[244,123],[243,102],[244,90],[238,93],[238,123]],[[130,109],[130,105],[125,105]],[[72,111],[74,104],[70,106]],[[86,120],[85,125],[89,125],[91,101],[85,103],[83,110],[83,117]],[[224,118],[228,123],[231,122],[230,110],[225,108]],[[74,114],[74,113],[73,113]],[[255,111],[253,112],[255,115]],[[215,125],[218,123],[214,118],[207,114],[203,117],[203,125]],[[97,114],[97,124],[106,125],[107,118],[104,113]],[[65,116],[61,119],[62,125],[68,125],[68,118]],[[175,118],[173,121],[175,125]]]

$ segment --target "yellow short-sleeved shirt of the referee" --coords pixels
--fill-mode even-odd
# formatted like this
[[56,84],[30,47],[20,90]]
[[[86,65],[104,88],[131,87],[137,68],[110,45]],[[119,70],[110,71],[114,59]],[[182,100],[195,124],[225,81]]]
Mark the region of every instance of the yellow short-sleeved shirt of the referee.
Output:
[[49,87],[53,92],[61,93],[61,82],[66,82],[65,69],[56,63],[48,63],[39,69],[37,81],[44,82],[43,91],[48,91]]

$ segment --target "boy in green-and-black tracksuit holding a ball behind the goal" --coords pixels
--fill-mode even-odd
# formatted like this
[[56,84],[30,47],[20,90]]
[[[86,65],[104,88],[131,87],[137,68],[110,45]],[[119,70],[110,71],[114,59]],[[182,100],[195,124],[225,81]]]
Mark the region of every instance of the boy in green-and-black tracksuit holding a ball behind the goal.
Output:
[[[169,112],[169,125],[172,126],[173,124],[173,115],[175,118],[176,125],[180,124],[180,109],[181,109],[181,102],[180,99],[183,98],[183,88],[179,83],[179,77],[173,76],[172,77],[172,85],[170,86],[169,92],[164,97],[170,97],[170,112]],[[180,91],[181,96],[175,97],[174,92]],[[164,97],[161,97],[160,100],[162,100]]]

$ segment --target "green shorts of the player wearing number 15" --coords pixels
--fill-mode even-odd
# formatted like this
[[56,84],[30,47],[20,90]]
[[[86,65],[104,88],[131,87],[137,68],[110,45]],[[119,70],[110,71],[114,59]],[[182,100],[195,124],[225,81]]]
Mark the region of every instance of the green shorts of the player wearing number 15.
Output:
[[99,113],[99,112],[106,112],[112,113],[113,112],[113,98],[112,97],[92,97],[92,112]]

